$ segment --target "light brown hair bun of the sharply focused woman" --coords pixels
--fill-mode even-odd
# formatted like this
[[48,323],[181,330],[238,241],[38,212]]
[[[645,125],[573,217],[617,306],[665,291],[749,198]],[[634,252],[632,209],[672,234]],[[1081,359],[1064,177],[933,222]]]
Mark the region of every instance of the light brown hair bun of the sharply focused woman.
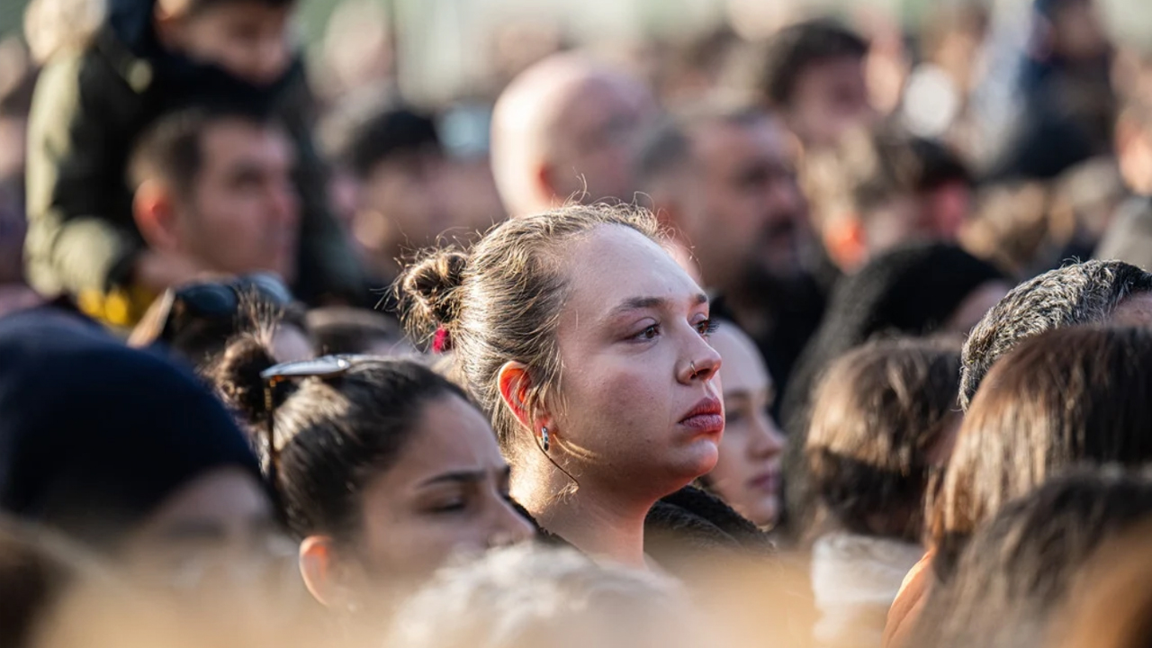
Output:
[[399,282],[400,307],[414,338],[427,338],[456,319],[456,289],[467,268],[467,254],[447,249],[434,251],[404,270]]

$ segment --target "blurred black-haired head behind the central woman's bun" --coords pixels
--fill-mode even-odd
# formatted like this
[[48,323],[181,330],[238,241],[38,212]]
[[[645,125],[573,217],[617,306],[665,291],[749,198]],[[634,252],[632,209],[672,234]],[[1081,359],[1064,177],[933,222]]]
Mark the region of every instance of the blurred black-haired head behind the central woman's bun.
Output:
[[381,276],[394,277],[401,256],[435,244],[453,226],[430,115],[380,111],[353,130],[341,158],[357,184],[351,234]]

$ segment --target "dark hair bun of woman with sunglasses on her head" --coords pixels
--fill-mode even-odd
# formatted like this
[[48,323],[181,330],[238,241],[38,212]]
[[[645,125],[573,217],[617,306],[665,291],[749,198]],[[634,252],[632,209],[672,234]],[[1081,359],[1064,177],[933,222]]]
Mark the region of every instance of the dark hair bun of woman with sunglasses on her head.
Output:
[[[228,344],[211,371],[212,382],[226,405],[249,424],[257,425],[266,421],[268,414],[260,372],[275,364],[267,342],[255,334],[243,334]],[[274,397],[282,401],[287,394],[283,390],[276,391]]]

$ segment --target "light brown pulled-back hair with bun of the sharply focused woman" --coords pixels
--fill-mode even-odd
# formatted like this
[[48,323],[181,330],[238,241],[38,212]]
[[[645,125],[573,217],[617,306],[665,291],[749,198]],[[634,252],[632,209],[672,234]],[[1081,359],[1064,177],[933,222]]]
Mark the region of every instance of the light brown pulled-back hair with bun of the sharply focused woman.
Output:
[[528,412],[558,404],[556,324],[568,287],[563,249],[607,225],[661,241],[655,218],[644,209],[571,205],[505,221],[470,251],[431,253],[397,280],[409,333],[424,341],[437,331],[447,334],[468,390],[492,417],[510,459],[518,423],[500,407],[500,368],[513,360],[526,366]]

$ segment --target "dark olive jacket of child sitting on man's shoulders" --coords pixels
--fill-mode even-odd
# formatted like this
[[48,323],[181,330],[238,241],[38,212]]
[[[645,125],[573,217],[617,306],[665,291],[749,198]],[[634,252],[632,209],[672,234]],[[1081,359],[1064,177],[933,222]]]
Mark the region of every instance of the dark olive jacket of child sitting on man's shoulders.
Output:
[[136,138],[167,112],[227,100],[270,111],[296,143],[298,296],[313,303],[328,296],[364,299],[355,255],[328,211],[301,62],[268,86],[252,86],[160,47],[153,5],[112,0],[106,24],[89,45],[54,56],[40,76],[29,120],[29,281],[46,295],[69,294],[85,306],[127,292],[129,271],[144,248],[126,178]]

